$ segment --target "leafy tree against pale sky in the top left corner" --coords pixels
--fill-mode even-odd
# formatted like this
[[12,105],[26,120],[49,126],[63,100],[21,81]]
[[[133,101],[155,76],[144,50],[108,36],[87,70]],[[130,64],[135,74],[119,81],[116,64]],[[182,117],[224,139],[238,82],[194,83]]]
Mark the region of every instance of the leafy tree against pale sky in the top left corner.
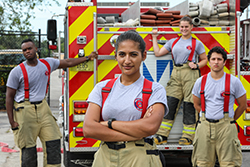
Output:
[[42,6],[60,6],[57,0],[2,0],[0,2],[0,31],[30,31],[30,19],[35,18],[34,9],[43,11]]

